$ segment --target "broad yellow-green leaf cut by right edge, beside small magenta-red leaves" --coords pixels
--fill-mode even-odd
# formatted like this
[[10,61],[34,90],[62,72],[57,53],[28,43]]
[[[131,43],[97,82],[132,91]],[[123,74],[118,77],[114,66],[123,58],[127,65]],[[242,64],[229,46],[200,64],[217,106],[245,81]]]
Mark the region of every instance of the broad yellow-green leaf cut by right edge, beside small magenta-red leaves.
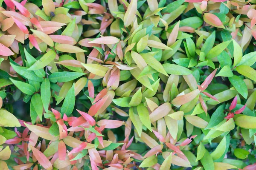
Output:
[[239,115],[236,117],[235,123],[241,128],[244,129],[256,129],[256,117],[247,116],[247,115]]

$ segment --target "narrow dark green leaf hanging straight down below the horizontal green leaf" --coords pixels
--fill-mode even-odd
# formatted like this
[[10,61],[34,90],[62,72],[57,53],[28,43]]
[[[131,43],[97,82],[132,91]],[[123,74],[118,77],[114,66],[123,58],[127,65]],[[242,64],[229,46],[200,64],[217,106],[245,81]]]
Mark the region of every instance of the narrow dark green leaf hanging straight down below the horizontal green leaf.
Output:
[[51,99],[51,85],[49,79],[45,78],[41,84],[41,99],[44,105],[44,110],[48,111],[48,105]]

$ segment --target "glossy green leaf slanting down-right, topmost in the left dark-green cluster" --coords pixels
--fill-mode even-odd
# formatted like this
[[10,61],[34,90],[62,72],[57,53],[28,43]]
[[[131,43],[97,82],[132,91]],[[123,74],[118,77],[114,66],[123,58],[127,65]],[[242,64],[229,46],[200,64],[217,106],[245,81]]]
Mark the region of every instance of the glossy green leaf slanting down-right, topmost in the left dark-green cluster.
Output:
[[12,68],[17,72],[17,74],[20,74],[20,76],[25,77],[26,79],[31,79],[33,81],[42,82],[44,79],[41,77],[38,77],[34,71],[29,71],[26,67],[19,67],[10,62]]

